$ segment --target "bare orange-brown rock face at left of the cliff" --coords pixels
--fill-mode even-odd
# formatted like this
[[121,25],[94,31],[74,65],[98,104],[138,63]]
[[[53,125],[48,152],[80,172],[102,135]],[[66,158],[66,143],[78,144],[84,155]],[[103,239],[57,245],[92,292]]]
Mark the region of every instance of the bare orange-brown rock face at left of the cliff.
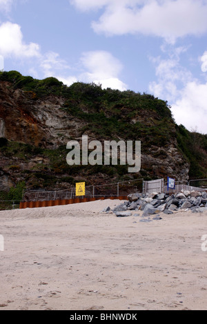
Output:
[[0,83],[0,137],[32,145],[55,148],[66,145],[70,137],[79,137],[75,118],[60,108],[64,99],[49,96],[33,99],[30,92],[12,90],[6,82]]

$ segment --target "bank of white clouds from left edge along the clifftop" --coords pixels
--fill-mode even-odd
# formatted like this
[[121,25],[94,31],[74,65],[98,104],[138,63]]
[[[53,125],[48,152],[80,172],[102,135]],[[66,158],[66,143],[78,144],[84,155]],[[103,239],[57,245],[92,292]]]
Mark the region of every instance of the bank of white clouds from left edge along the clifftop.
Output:
[[[1,1],[1,0],[0,0]],[[0,25],[0,57],[23,59],[28,72],[38,78],[39,71],[44,78],[56,77],[66,85],[77,80],[101,83],[103,88],[126,90],[126,84],[119,79],[123,66],[120,61],[106,51],[85,52],[80,59],[82,72],[70,75],[71,70],[67,61],[61,59],[57,52],[42,53],[39,44],[25,43],[21,26],[17,23],[6,22]],[[32,58],[32,66],[30,59]],[[2,64],[1,64],[2,65]],[[1,68],[0,65],[0,68]],[[41,68],[41,69],[39,69]],[[69,74],[69,75],[68,75]]]

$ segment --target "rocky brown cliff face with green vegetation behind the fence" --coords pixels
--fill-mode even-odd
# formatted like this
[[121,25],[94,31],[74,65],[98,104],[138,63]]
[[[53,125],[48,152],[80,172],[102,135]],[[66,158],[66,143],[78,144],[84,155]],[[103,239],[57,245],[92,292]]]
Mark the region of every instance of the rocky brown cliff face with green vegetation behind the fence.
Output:
[[[126,98],[117,103],[115,98],[106,99],[108,92],[100,89],[100,96],[95,94],[93,100],[90,94],[89,101],[88,92],[75,92],[75,85],[70,91],[63,88],[66,94],[48,91],[39,96],[35,88],[14,85],[15,82],[0,79],[0,190],[8,190],[18,181],[26,181],[28,188],[68,188],[72,180],[67,183],[67,176],[75,180],[81,177],[88,184],[97,179],[101,184],[135,176],[188,179],[190,163],[178,148],[175,123],[164,101],[141,95],[130,99],[131,94],[126,93]],[[84,88],[83,84],[76,86]],[[91,87],[97,90],[95,85]],[[149,101],[156,109],[144,106]],[[89,141],[141,140],[141,172],[135,175],[118,170],[110,176],[106,168],[97,172],[67,168],[64,148],[70,139],[80,140],[83,134],[88,135]],[[37,181],[37,172],[59,181],[43,185],[41,175]],[[61,178],[65,180],[61,182]]]

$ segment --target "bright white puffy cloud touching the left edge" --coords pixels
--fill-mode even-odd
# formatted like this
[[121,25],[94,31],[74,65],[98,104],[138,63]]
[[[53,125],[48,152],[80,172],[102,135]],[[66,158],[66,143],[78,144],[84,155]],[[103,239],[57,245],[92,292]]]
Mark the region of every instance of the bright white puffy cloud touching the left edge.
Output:
[[36,43],[26,44],[23,42],[21,27],[17,23],[2,23],[0,26],[0,54],[7,57],[38,57],[39,45]]

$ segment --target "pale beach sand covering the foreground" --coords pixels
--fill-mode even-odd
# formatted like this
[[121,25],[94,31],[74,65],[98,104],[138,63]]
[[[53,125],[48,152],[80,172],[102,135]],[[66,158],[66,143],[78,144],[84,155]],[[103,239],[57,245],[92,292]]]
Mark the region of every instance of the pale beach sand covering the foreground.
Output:
[[101,213],[119,204],[0,212],[0,310],[206,310],[207,213]]

